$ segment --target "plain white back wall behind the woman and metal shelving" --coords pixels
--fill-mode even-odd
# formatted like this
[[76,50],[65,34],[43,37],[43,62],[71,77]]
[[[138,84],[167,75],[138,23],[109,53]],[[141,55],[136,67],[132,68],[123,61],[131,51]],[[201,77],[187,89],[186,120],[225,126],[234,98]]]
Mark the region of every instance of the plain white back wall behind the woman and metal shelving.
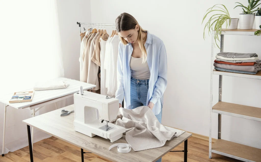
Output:
[[[162,123],[209,136],[211,37],[203,40],[205,11],[224,4],[232,18],[240,8],[235,2],[204,1],[101,1],[91,0],[92,23],[115,23],[122,12],[133,15],[143,29],[160,37],[168,57],[168,86],[164,94]],[[108,27],[107,30],[111,30]],[[225,36],[224,51],[260,55],[260,37]],[[215,49],[215,54],[219,50]],[[260,80],[223,77],[223,101],[260,107]],[[214,76],[213,104],[218,101],[218,76]],[[213,114],[213,138],[217,138],[217,114]],[[261,148],[261,122],[222,115],[222,139]]]

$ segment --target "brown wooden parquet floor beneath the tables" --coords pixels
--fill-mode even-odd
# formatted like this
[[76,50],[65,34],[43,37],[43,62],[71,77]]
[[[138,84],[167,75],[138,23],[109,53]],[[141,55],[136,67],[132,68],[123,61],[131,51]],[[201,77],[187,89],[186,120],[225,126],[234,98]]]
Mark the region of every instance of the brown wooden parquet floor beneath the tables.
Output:
[[[184,142],[176,147],[173,151],[183,150]],[[87,151],[85,151],[87,152]],[[228,158],[222,155],[212,153],[212,159],[209,159],[209,144],[207,140],[191,137],[188,139],[188,161],[190,162],[205,162],[205,161],[240,161],[232,158]],[[162,157],[162,162],[181,162],[183,161],[183,152],[169,152]],[[50,137],[48,139],[41,140],[34,143],[33,156],[36,162],[49,162],[49,161],[61,161],[61,162],[75,162],[81,161],[81,149],[67,142],[64,142],[58,138]],[[106,162],[104,158],[101,158],[95,154],[84,154],[85,162]],[[9,152],[0,157],[0,162],[27,162],[30,161],[29,148],[24,147],[20,150]]]

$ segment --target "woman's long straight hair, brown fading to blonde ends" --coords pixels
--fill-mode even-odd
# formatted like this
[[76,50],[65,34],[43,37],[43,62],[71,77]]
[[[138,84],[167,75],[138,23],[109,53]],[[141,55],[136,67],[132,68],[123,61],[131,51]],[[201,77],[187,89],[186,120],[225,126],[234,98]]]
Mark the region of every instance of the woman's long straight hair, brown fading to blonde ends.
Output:
[[[121,32],[121,31],[126,31],[126,30],[131,30],[131,29],[135,29],[136,25],[139,23],[137,22],[137,20],[130,14],[128,13],[122,13],[120,16],[118,16],[116,18],[116,30],[117,32]],[[139,43],[139,47],[141,49],[141,54],[142,54],[142,63],[145,63],[147,61],[147,51],[146,48],[143,44],[143,37],[142,37],[142,32],[143,33],[147,33],[146,30],[142,29],[141,26],[139,25],[139,30],[138,30],[138,43]],[[145,40],[147,38],[147,35],[145,37]],[[123,38],[120,37],[121,42],[126,45],[128,44],[128,42]]]

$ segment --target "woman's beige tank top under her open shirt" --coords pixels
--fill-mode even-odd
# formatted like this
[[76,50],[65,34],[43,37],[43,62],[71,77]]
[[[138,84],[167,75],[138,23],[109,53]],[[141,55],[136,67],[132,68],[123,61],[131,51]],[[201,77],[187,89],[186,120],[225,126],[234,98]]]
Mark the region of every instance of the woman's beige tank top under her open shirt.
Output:
[[131,56],[130,61],[131,76],[135,79],[150,79],[150,69],[147,61],[142,63],[142,57],[136,58]]

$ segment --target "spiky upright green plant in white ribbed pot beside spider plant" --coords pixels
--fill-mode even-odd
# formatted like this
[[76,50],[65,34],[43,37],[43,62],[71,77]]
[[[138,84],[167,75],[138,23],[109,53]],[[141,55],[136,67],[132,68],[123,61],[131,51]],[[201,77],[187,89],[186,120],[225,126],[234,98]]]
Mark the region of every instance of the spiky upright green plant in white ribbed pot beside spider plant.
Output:
[[240,29],[253,29],[253,24],[254,24],[254,20],[255,20],[254,12],[258,11],[258,10],[255,10],[255,8],[259,4],[261,4],[261,3],[258,4],[259,1],[260,0],[248,0],[247,7],[239,2],[236,2],[236,3],[240,4],[240,5],[237,5],[236,7],[241,7],[243,9],[243,14],[239,14],[239,28]]

